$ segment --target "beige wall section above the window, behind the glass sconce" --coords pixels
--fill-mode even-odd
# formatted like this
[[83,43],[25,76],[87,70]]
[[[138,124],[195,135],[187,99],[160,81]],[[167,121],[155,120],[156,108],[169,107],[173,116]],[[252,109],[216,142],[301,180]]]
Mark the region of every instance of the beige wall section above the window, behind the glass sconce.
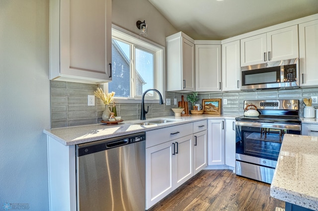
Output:
[[165,37],[178,32],[148,0],[112,0],[113,24],[139,34],[138,20],[148,24],[146,39],[164,47]]

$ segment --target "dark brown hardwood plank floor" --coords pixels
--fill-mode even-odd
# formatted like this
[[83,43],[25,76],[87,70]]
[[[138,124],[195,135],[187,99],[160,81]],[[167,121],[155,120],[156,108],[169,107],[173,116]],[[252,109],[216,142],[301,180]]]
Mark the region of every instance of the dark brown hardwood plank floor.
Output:
[[270,185],[232,170],[202,170],[148,211],[282,211]]

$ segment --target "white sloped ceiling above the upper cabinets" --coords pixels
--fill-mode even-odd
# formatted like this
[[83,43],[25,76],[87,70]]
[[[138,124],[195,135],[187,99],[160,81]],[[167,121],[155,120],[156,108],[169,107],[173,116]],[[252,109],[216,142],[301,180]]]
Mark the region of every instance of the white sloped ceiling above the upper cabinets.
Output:
[[149,0],[195,40],[223,40],[318,13],[318,0]]

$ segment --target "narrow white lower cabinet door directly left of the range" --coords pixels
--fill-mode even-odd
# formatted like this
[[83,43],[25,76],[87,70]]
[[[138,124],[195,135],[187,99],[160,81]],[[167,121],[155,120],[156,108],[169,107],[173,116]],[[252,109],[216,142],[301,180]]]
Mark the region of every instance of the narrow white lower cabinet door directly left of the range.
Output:
[[236,126],[235,120],[225,120],[225,164],[235,168]]

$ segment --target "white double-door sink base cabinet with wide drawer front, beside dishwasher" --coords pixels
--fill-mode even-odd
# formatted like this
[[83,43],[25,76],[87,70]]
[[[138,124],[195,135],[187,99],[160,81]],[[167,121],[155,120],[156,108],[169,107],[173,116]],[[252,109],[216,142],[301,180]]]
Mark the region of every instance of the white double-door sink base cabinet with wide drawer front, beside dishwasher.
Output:
[[[146,132],[146,209],[193,176],[192,125],[188,123]],[[175,136],[183,137],[173,139]],[[147,142],[151,143],[148,147]]]

